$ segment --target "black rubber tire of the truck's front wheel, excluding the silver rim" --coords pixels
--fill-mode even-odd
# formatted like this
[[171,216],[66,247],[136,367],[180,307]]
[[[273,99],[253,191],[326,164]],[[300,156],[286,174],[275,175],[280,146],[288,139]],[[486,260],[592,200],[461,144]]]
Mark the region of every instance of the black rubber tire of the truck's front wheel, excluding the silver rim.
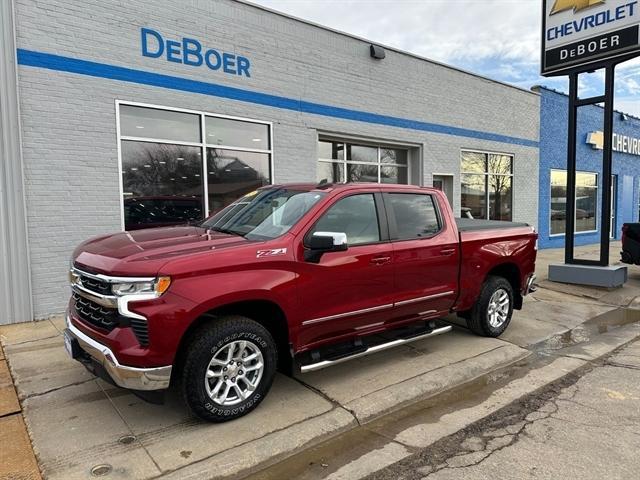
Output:
[[[239,347],[236,349],[229,347],[233,342],[247,342],[247,344],[251,345],[251,349],[255,347],[259,350],[262,355],[263,368],[255,389],[247,394],[247,398],[244,400],[241,400],[239,391],[227,383],[231,379],[225,380],[220,390],[229,385],[234,390],[232,395],[235,396],[235,400],[232,400],[238,403],[224,405],[220,403],[220,395],[217,395],[217,399],[209,395],[205,383],[209,382],[207,373],[210,370],[210,362],[216,357],[216,354],[224,354],[226,356],[230,350],[239,351]],[[187,406],[198,417],[210,422],[226,422],[242,417],[256,408],[269,392],[276,374],[278,352],[273,337],[258,322],[239,315],[221,317],[204,325],[192,337],[191,343],[186,348],[182,370],[182,395]],[[239,356],[237,359],[242,360]],[[229,368],[229,371],[231,371],[232,369],[243,368],[241,365],[242,362],[237,362],[237,366],[234,363],[232,367],[228,365],[225,367],[211,366],[211,369],[220,369],[216,372],[218,380],[211,379],[211,382],[216,382],[217,385],[218,381],[222,381],[219,375],[222,368]],[[211,373],[213,372],[212,370]],[[241,375],[239,374],[242,373],[242,370],[234,370],[234,374],[237,377],[233,377],[233,381],[234,384],[237,382],[238,389],[242,387],[248,388],[247,386],[249,385],[248,382],[244,383],[241,380]],[[248,377],[249,372],[244,372],[244,374]],[[207,384],[209,388],[212,387],[211,383]],[[230,393],[230,390],[228,392]]]

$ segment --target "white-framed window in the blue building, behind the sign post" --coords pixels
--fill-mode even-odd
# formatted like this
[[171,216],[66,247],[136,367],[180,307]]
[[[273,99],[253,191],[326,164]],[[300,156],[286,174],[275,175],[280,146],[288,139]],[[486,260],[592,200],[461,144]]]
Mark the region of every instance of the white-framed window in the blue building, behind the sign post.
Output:
[[[576,232],[597,231],[598,175],[576,172]],[[551,170],[551,235],[564,235],[567,209],[567,172]]]

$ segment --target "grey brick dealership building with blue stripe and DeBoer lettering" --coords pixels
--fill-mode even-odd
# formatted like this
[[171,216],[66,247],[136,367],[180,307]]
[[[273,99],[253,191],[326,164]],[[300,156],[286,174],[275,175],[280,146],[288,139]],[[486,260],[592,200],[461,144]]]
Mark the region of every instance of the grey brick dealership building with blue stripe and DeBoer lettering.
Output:
[[544,93],[241,1],[0,9],[0,323],[63,312],[83,240],[270,183],[433,185],[539,224]]

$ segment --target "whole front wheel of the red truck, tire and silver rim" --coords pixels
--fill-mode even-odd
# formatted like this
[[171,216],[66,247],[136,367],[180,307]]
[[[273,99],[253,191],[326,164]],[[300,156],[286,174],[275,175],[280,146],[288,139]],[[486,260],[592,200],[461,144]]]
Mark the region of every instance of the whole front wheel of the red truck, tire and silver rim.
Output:
[[259,323],[228,316],[205,325],[187,347],[182,393],[191,411],[226,422],[256,408],[271,388],[277,350]]

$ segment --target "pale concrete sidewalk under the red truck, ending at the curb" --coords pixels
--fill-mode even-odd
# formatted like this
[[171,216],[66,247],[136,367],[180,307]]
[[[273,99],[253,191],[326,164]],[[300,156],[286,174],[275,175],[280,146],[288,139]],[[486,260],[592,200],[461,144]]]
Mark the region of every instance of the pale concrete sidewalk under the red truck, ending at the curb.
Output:
[[[553,254],[541,252],[541,270]],[[61,319],[1,327],[0,340],[45,478],[87,478],[94,468],[106,478],[241,477],[408,405],[499,375],[541,349],[575,344],[573,358],[598,354],[584,341],[593,327],[615,330],[627,321],[616,312],[637,304],[638,270],[630,270],[632,281],[623,289],[604,292],[548,288],[541,271],[544,288],[527,298],[500,339],[456,327],[298,378],[280,375],[255,412],[226,424],[191,417],[175,392],[157,406],[96,380],[68,358]],[[598,320],[604,314],[611,325]],[[637,334],[612,332],[610,344],[593,348],[615,348]]]

